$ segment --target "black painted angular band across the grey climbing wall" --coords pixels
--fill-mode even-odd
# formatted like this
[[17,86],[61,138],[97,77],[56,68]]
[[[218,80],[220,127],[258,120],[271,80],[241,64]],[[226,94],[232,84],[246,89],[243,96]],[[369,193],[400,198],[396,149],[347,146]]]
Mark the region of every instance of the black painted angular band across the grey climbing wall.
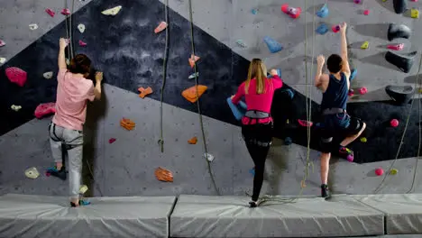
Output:
[[[122,5],[115,16],[105,16],[101,11],[115,5]],[[188,79],[193,70],[188,65],[191,52],[190,24],[188,20],[169,9],[170,54],[164,102],[197,112],[196,104],[191,104],[181,96],[181,91],[194,86],[194,79]],[[73,14],[73,42],[77,53],[86,53],[93,59],[96,69],[105,73],[105,83],[137,93],[138,87],[152,87],[150,96],[160,100],[162,63],[165,33],[155,34],[154,28],[164,20],[164,5],[158,0],[124,1],[94,0],[76,14]],[[76,25],[84,23],[87,31],[80,34]],[[225,98],[236,91],[246,78],[249,65],[247,59],[234,53],[225,44],[202,31],[194,29],[198,61],[199,83],[208,87],[201,97],[204,115],[217,120],[238,124],[234,121]],[[66,36],[65,23],[60,23],[50,32],[33,42],[28,48],[10,59],[0,70],[0,134],[4,134],[33,118],[33,111],[40,103],[55,101],[57,82],[45,79],[42,73],[53,71],[57,75],[57,54],[60,37]],[[87,47],[79,47],[78,40],[87,42]],[[24,87],[17,87],[5,77],[7,67],[19,67],[28,72]],[[140,99],[141,100],[141,99]],[[10,105],[22,105],[18,113]],[[305,128],[283,130],[286,119],[294,123],[306,119],[306,97],[296,94],[293,102],[277,92],[272,106],[275,118],[276,136],[289,135],[293,141],[307,144]],[[318,105],[313,103],[312,118],[316,118]],[[415,107],[417,108],[417,107]],[[399,146],[399,138],[404,128],[408,107],[389,105],[383,102],[353,103],[348,105],[350,114],[361,117],[368,129],[364,133],[367,143],[354,142],[356,162],[392,160]],[[401,119],[399,128],[390,128],[392,117]],[[406,142],[399,158],[417,154],[417,117],[413,114],[408,127]],[[317,134],[312,148],[317,149]]]

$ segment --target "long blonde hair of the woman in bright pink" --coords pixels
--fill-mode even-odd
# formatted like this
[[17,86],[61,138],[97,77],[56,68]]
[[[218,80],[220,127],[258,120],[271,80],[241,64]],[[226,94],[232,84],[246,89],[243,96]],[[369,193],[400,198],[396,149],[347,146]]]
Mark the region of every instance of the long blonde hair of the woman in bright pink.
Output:
[[267,67],[262,63],[261,59],[252,59],[249,65],[248,78],[244,84],[244,93],[248,94],[251,79],[256,80],[256,94],[265,93],[265,81],[267,79]]

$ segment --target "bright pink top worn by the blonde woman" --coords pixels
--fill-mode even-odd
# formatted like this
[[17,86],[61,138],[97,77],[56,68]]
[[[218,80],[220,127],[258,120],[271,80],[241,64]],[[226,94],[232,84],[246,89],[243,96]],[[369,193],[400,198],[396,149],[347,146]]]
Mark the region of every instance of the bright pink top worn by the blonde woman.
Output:
[[[272,78],[267,78],[265,80],[265,93],[256,94],[256,79],[252,78],[251,83],[249,84],[248,94],[244,92],[243,82],[239,89],[237,90],[236,95],[233,97],[232,102],[234,105],[237,105],[241,100],[242,96],[245,97],[247,110],[256,110],[264,113],[271,112],[272,96],[274,96],[274,91],[283,86],[283,81],[279,76],[274,76]],[[261,120],[260,120],[261,122]],[[244,123],[244,122],[243,122]]]

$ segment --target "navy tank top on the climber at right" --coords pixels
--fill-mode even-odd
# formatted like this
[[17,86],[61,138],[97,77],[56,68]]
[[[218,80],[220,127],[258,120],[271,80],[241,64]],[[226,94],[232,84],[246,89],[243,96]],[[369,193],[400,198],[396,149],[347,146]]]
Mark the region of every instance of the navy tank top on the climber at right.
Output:
[[341,79],[338,80],[334,75],[330,74],[328,87],[326,87],[326,92],[323,94],[321,110],[327,108],[346,109],[347,94],[349,92],[347,78],[344,73],[340,73],[340,77]]

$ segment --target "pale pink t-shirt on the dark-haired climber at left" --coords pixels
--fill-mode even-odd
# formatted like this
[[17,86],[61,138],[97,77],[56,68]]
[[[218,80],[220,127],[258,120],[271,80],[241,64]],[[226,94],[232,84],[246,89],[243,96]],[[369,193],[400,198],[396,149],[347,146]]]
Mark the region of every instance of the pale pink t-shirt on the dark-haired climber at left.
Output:
[[56,114],[52,122],[61,127],[82,131],[87,117],[87,100],[94,101],[94,83],[75,77],[67,69],[60,69],[57,76]]

